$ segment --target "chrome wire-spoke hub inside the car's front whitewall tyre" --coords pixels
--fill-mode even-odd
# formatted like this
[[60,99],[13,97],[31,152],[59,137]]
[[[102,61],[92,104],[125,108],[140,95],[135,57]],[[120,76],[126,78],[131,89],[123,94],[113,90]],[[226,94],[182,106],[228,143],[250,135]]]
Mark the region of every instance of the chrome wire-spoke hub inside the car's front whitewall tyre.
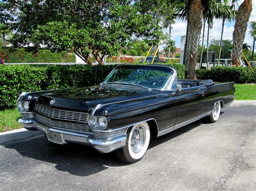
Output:
[[132,132],[131,149],[132,152],[138,153],[145,145],[145,130],[142,126],[138,126]]

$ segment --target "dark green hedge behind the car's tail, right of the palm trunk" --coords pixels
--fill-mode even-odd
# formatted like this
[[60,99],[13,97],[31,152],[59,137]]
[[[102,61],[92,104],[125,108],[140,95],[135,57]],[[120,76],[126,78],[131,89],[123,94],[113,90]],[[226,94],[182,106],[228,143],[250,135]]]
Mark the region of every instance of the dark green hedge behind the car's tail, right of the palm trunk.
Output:
[[256,78],[256,70],[244,67],[213,67],[211,70],[196,70],[197,79],[212,79],[215,82],[250,83]]

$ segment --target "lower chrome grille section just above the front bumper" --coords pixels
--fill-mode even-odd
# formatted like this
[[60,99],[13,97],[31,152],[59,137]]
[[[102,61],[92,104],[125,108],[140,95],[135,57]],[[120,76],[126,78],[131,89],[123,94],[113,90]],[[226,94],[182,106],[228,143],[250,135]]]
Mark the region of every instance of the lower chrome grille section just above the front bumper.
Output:
[[37,113],[35,113],[35,119],[37,123],[48,126],[49,128],[53,129],[66,129],[72,131],[92,133],[92,129],[90,128],[89,124],[53,121]]

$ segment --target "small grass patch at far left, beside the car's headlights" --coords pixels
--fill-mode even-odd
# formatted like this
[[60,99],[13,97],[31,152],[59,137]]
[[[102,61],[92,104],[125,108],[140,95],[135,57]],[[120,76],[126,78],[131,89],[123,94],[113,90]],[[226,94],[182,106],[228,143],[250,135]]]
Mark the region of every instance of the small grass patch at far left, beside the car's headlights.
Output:
[[22,128],[22,125],[16,122],[20,116],[17,109],[0,111],[0,132]]

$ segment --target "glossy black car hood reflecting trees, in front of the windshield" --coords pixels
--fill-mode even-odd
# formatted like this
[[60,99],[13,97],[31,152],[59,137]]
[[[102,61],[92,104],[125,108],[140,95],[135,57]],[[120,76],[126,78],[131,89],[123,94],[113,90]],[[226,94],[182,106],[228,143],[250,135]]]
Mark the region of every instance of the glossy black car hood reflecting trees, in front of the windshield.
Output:
[[[90,111],[97,105],[112,105],[116,103],[134,103],[150,100],[163,95],[161,91],[144,91],[137,89],[114,89],[111,87],[85,87],[64,90],[42,91],[29,93],[19,100],[36,100],[56,108]],[[51,103],[50,103],[51,102]]]

